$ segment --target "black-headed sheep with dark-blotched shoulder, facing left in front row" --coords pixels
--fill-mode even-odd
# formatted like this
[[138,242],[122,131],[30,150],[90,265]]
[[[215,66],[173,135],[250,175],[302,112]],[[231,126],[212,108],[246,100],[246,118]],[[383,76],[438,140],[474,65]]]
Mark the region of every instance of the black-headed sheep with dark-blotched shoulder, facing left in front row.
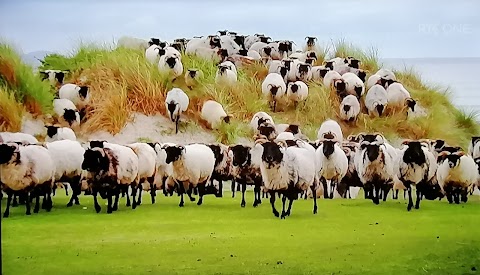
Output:
[[[91,143],[92,145],[92,143]],[[132,187],[132,209],[136,205],[136,190],[139,185],[138,157],[135,152],[126,146],[103,143],[103,148],[93,147],[85,150],[83,155],[82,169],[92,175],[92,193],[95,211],[102,210],[97,201],[97,194],[107,199],[107,213],[111,214],[118,209],[120,189]],[[115,201],[112,204],[112,198]],[[130,206],[130,198],[127,194],[127,206]]]

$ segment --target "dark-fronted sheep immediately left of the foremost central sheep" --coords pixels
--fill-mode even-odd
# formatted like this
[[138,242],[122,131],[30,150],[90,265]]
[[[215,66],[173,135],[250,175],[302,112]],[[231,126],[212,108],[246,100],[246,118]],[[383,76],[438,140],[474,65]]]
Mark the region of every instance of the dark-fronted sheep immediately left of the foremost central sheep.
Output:
[[[260,198],[260,188],[262,186],[262,175],[260,165],[252,161],[252,147],[247,145],[232,145],[229,147],[232,159],[232,177],[235,182],[242,187],[241,207],[245,207],[245,190],[247,185],[254,186],[253,207],[257,207],[262,203]],[[232,185],[232,197],[234,196],[234,188]]]

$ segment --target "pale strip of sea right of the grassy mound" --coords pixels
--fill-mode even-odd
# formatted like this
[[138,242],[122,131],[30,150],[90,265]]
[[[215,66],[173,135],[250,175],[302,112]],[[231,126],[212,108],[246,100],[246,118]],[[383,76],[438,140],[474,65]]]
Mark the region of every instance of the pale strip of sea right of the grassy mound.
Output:
[[384,67],[413,68],[422,80],[441,91],[448,89],[455,106],[477,113],[480,121],[480,57],[475,58],[384,58]]

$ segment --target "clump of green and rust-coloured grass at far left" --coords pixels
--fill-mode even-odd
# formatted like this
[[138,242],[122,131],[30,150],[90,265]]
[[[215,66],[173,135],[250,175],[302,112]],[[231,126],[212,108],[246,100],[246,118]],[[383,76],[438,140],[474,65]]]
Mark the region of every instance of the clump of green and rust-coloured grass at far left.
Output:
[[[25,104],[30,113],[39,115],[52,111],[54,91],[50,85],[35,75],[6,43],[0,43],[0,84],[13,92],[16,101]],[[5,103],[0,101],[0,104]]]

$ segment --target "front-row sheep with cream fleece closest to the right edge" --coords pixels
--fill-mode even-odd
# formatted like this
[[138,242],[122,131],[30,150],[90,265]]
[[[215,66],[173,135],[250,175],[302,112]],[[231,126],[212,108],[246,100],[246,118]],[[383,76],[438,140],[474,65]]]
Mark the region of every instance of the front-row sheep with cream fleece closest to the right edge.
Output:
[[478,167],[469,155],[464,152],[441,152],[438,155],[440,164],[437,169],[437,180],[440,188],[447,195],[449,203],[456,204],[468,200],[468,190],[478,183]]

